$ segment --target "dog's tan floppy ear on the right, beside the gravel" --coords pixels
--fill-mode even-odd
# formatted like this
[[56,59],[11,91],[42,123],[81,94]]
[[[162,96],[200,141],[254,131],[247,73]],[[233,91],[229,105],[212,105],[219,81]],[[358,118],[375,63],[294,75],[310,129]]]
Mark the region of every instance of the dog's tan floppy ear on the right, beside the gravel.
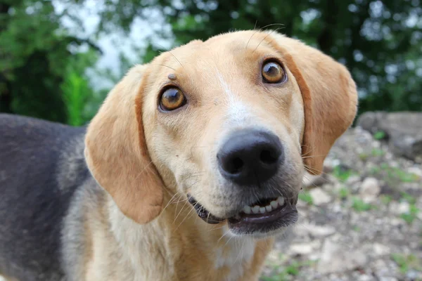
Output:
[[356,115],[356,85],[346,67],[328,55],[281,34],[271,35],[302,92],[304,164],[312,174],[321,174],[331,146]]

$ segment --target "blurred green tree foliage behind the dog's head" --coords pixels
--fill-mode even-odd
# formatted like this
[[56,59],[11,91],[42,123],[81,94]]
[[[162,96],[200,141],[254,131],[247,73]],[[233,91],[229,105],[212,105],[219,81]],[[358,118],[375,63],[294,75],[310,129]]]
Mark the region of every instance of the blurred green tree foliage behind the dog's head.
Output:
[[[77,11],[87,1],[55,2]],[[133,63],[165,51],[158,39],[177,46],[270,25],[344,63],[357,81],[360,112],[422,110],[420,0],[96,1],[101,17],[96,35],[126,36],[139,18],[153,34],[139,50],[139,61],[122,56],[119,71],[96,70],[109,81],[117,81]],[[157,24],[157,16],[170,28]],[[71,35],[63,17],[79,25],[83,21],[67,8],[58,13],[52,1],[0,0],[0,112],[73,125],[94,115],[106,93],[94,90],[87,77],[100,55],[94,44],[98,37]]]

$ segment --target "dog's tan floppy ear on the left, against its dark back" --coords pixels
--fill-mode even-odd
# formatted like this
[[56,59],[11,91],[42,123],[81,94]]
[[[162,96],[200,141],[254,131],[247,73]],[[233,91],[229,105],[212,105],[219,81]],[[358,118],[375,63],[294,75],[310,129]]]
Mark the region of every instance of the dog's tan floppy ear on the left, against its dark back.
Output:
[[163,185],[148,155],[142,124],[142,84],[146,66],[136,66],[110,91],[85,137],[91,174],[120,210],[148,223],[162,209]]

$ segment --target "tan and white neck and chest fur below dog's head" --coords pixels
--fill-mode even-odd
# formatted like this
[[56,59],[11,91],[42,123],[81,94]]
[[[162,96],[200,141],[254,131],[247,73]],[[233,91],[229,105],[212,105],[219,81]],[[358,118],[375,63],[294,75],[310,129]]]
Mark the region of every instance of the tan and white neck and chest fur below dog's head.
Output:
[[109,203],[111,230],[139,280],[257,280],[272,247],[273,239],[235,237],[226,223],[205,223],[186,201],[165,204],[146,225]]

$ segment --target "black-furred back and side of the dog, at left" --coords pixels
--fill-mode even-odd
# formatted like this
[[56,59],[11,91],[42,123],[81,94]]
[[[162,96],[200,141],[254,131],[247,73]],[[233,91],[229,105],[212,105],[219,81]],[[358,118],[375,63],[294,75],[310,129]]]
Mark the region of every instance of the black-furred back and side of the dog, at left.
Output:
[[0,115],[0,274],[18,280],[63,276],[63,221],[75,191],[91,178],[84,132],[84,127]]

